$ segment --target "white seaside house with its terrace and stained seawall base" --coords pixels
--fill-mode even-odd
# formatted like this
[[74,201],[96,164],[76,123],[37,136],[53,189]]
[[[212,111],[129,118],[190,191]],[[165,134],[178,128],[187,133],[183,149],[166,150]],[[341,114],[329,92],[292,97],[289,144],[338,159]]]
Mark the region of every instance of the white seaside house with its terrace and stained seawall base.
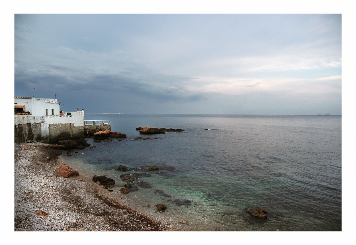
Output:
[[[15,97],[15,142],[58,142],[111,129],[110,121],[85,120],[84,109],[60,111],[57,99]],[[88,124],[89,122],[89,124]]]

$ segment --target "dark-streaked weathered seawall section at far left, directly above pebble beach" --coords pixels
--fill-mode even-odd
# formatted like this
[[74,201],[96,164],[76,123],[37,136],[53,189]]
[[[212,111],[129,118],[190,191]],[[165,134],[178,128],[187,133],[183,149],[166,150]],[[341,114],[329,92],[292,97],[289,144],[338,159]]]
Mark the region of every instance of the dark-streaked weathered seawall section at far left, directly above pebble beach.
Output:
[[15,143],[24,143],[27,140],[48,141],[45,123],[15,124]]

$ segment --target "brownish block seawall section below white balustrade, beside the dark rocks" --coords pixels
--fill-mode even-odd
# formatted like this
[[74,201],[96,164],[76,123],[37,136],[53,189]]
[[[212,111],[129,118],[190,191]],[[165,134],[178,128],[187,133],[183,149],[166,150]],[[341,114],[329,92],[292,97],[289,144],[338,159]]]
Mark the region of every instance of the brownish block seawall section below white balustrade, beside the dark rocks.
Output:
[[49,124],[49,143],[65,139],[84,137],[84,126],[74,126],[74,123]]

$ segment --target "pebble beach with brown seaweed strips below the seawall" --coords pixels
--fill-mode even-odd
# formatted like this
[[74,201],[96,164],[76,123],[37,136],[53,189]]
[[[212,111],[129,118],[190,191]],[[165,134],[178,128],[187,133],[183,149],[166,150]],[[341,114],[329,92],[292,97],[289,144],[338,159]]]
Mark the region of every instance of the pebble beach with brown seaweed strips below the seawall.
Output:
[[56,176],[61,151],[15,144],[15,231],[164,231],[86,176]]

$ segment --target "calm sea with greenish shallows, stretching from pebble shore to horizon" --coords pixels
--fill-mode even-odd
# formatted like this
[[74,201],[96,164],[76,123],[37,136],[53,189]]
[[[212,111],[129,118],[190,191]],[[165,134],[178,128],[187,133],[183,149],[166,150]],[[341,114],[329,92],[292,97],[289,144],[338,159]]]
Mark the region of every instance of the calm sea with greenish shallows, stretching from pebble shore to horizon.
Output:
[[[340,231],[341,116],[85,115],[126,134],[75,154],[79,171],[114,178],[113,195],[175,227],[205,231]],[[183,132],[135,140],[139,126]],[[208,129],[208,130],[206,130]],[[147,136],[145,136],[147,137]],[[125,165],[158,166],[139,179],[152,188],[121,194]],[[91,176],[90,176],[91,177]],[[164,193],[159,194],[157,190]],[[166,195],[164,195],[166,194]],[[177,201],[190,200],[189,205]],[[159,213],[156,204],[167,210]],[[251,219],[244,208],[266,208]],[[178,220],[185,220],[181,224]]]

